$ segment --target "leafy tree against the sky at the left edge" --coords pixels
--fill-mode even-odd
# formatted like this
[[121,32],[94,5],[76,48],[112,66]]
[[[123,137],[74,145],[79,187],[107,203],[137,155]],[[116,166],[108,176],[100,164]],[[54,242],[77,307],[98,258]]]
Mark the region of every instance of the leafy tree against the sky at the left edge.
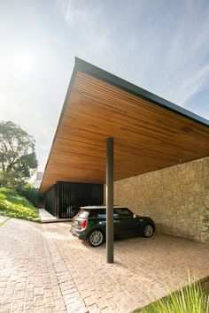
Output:
[[0,182],[7,187],[25,184],[37,168],[35,140],[11,121],[0,122]]

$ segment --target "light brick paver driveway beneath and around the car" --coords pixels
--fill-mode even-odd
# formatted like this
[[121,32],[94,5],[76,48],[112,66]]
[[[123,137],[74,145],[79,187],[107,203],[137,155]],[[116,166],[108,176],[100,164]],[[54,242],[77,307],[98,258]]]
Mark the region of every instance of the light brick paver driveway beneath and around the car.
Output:
[[[158,234],[90,248],[69,223],[38,225],[11,219],[0,227],[0,312],[130,312],[167,285],[209,275],[209,248]],[[172,288],[175,286],[172,285]]]

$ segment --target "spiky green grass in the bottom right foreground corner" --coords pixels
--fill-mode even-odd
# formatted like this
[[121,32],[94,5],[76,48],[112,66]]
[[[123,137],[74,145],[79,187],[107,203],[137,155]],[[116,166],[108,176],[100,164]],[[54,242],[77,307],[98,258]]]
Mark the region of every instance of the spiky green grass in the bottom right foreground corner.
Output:
[[189,283],[188,286],[153,302],[135,313],[207,313],[209,312],[208,278]]

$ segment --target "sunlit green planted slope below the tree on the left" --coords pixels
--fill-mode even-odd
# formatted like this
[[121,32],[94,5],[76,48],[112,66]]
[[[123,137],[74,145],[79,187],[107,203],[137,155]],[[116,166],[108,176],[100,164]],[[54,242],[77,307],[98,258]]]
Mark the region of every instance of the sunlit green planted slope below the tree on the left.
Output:
[[14,190],[0,187],[0,215],[41,223],[38,210]]

